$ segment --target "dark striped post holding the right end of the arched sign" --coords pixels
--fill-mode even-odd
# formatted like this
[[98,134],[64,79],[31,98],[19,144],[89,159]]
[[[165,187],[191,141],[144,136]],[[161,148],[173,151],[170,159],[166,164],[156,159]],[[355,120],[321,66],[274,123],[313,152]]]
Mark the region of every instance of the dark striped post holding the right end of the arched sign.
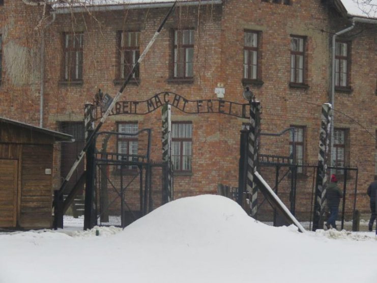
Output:
[[257,213],[257,197],[258,188],[254,181],[254,172],[256,171],[256,163],[258,160],[258,136],[260,129],[260,102],[250,101],[250,125],[249,139],[247,150],[247,183],[246,190],[251,194],[251,216],[255,217]]

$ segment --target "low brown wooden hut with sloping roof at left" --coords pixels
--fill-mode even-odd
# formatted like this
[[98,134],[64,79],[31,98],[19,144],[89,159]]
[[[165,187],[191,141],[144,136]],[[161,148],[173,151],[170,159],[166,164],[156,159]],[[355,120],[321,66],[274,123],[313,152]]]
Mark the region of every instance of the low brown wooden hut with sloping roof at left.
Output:
[[52,224],[53,145],[72,136],[0,117],[0,227]]

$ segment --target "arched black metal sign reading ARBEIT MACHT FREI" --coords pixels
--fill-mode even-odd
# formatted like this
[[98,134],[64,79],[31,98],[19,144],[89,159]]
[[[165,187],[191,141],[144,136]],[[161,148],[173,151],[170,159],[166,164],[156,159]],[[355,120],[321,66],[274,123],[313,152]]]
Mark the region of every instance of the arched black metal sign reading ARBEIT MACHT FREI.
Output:
[[[118,101],[111,110],[112,115],[146,115],[159,107],[168,104],[187,114],[219,113],[239,118],[249,118],[249,103],[238,103],[219,99],[188,100],[183,96],[172,92],[161,92],[147,100]],[[95,108],[95,120],[100,119],[106,107]]]

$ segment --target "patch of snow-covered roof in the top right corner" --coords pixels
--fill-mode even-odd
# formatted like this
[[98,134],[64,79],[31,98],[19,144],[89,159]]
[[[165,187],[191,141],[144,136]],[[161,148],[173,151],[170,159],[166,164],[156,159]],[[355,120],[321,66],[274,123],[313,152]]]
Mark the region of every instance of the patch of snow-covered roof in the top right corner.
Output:
[[377,18],[377,0],[341,0],[351,16]]

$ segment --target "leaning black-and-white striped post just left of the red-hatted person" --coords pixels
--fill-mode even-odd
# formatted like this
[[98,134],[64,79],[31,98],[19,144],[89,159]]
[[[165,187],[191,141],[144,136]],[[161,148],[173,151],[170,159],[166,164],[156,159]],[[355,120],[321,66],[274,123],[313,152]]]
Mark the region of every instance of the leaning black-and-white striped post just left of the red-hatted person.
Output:
[[329,134],[331,122],[331,104],[322,105],[322,121],[320,130],[320,153],[318,154],[318,167],[314,196],[313,231],[322,229],[320,222],[326,206],[327,159],[329,152]]

